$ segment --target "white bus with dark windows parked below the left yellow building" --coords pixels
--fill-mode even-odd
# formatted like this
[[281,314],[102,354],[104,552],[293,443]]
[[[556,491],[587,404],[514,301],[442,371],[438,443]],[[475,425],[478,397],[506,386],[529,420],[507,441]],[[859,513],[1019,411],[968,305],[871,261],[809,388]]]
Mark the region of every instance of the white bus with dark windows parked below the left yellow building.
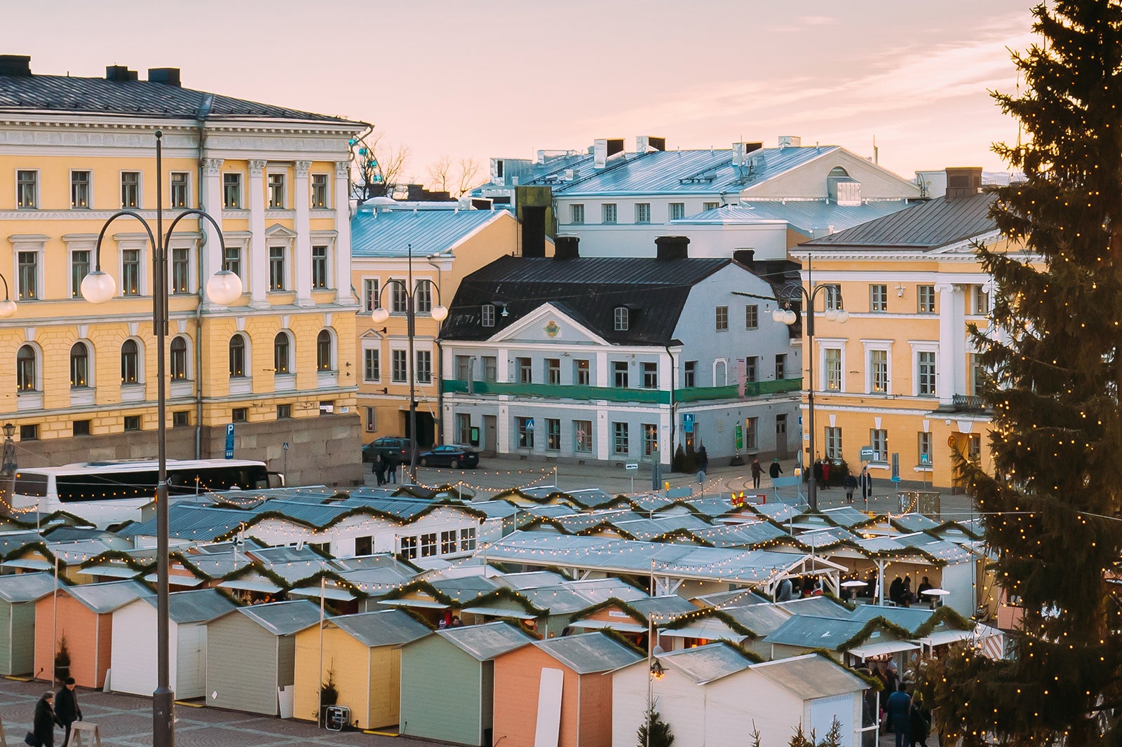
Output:
[[[66,511],[99,527],[140,519],[140,507],[156,497],[159,464],[156,460],[80,462],[63,467],[29,467],[16,472],[12,513]],[[169,496],[214,490],[258,490],[283,487],[284,476],[269,472],[265,462],[243,459],[169,459]]]

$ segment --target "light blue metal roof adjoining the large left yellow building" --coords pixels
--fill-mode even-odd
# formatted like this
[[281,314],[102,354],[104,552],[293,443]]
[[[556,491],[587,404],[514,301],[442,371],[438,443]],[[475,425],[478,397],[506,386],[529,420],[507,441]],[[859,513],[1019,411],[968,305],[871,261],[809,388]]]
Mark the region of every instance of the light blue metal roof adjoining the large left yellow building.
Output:
[[351,219],[351,257],[430,257],[449,251],[509,213],[490,210],[387,210],[364,205]]

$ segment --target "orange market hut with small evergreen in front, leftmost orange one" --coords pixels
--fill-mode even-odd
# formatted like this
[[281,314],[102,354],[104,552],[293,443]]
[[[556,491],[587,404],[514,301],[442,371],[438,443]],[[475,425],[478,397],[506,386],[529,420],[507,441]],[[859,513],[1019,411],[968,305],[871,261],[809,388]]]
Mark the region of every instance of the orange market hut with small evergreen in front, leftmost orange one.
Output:
[[112,581],[59,588],[57,610],[55,594],[40,598],[35,603],[35,677],[50,680],[55,653],[65,639],[70,676],[81,688],[102,688],[112,656],[113,611],[151,596],[138,581]]

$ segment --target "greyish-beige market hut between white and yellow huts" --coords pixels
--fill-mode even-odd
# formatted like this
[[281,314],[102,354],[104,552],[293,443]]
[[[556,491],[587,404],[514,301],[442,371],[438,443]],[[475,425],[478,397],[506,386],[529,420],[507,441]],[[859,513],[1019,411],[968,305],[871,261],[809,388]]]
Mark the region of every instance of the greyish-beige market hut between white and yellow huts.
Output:
[[291,698],[295,683],[296,634],[319,621],[319,606],[306,599],[239,607],[211,620],[206,704],[277,716],[280,689]]

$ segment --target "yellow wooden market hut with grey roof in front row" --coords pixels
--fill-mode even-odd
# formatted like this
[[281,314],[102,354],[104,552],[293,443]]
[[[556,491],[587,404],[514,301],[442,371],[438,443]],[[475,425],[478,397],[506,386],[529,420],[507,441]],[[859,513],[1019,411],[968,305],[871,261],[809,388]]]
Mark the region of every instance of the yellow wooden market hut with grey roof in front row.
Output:
[[330,681],[339,692],[338,704],[350,709],[352,726],[376,729],[398,723],[401,647],[430,631],[396,609],[342,615],[324,620],[322,628],[301,630],[294,716],[318,718],[320,685]]

